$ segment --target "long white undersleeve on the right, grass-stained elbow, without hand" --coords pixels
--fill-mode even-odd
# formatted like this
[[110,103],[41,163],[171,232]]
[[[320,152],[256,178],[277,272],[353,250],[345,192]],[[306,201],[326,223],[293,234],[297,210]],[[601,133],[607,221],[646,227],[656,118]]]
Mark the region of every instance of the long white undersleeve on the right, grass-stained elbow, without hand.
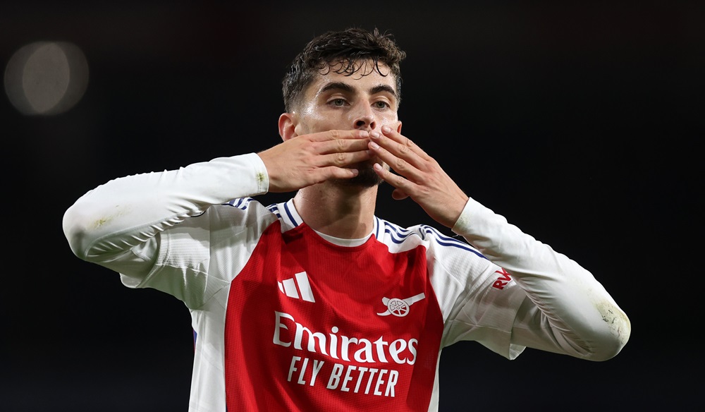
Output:
[[[577,262],[472,198],[453,231],[497,265],[498,274],[504,269],[525,292],[511,329],[508,358],[527,346],[606,360],[627,343],[629,319],[599,281]],[[515,293],[507,299],[515,300]],[[508,305],[517,305],[517,301]],[[472,315],[460,310],[456,321],[472,324]]]

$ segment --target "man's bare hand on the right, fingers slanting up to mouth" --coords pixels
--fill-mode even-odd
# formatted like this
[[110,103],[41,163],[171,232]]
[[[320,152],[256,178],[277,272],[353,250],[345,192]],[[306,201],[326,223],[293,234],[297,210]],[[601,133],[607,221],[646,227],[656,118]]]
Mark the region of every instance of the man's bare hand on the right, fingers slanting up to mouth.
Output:
[[392,197],[412,198],[436,222],[453,227],[465,207],[467,195],[433,157],[411,140],[387,126],[381,131],[370,133],[369,148],[397,173],[374,165],[376,174],[394,186]]

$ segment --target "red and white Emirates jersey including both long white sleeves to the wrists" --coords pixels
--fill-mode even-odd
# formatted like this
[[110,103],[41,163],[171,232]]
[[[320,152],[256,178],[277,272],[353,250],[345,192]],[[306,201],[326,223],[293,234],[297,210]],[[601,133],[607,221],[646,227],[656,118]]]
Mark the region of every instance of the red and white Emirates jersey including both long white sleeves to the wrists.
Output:
[[64,215],[78,257],[190,310],[190,411],[436,411],[456,341],[603,360],[629,337],[587,270],[472,198],[465,239],[374,217],[347,240],[252,198],[268,185],[257,154],[221,157],[116,178]]

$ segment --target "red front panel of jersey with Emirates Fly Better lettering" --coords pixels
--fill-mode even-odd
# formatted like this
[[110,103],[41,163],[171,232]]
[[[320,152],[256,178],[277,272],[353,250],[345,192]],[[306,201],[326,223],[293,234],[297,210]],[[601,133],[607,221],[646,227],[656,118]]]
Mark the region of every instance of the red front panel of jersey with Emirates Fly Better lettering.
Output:
[[231,284],[228,411],[427,411],[442,334],[424,246],[336,246],[276,221]]

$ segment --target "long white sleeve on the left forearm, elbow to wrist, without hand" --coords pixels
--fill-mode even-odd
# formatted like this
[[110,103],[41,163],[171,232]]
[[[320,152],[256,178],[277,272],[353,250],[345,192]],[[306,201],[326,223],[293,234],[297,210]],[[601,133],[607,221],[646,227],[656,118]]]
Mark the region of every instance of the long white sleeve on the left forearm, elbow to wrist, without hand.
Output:
[[76,200],[63,231],[75,255],[104,262],[211,205],[266,193],[268,184],[257,154],[116,178]]

